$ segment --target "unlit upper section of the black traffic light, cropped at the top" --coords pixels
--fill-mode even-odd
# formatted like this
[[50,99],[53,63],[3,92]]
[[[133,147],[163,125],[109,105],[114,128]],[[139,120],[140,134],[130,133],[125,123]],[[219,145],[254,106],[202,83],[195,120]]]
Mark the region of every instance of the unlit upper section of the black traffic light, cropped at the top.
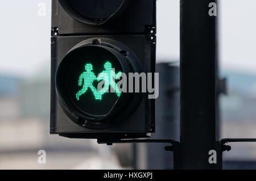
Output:
[[[119,2],[120,7],[117,5],[118,10],[112,11],[113,14],[109,12],[109,18],[98,19],[96,15],[96,18],[83,18],[68,2],[88,2],[88,9],[94,7],[95,12],[109,3]],[[102,7],[101,2],[107,3]],[[57,27],[60,35],[155,35],[156,0],[52,0],[52,27]]]

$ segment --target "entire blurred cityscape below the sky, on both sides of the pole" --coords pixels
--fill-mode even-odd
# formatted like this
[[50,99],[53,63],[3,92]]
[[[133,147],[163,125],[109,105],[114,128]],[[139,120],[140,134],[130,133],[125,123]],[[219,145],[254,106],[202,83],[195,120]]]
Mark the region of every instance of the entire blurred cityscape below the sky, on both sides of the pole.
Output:
[[[152,153],[149,150],[151,147],[144,144],[105,146],[98,145],[96,140],[72,140],[50,135],[49,70],[47,64],[31,78],[0,75],[0,169],[171,168],[157,166],[155,159],[146,156],[146,153],[158,155],[159,162],[160,157],[166,157],[163,147],[158,153],[155,153],[156,150]],[[175,69],[171,71],[173,74],[179,73]],[[177,82],[178,75],[176,77]],[[256,74],[224,71],[222,77],[228,79],[228,95],[220,98],[220,137],[256,137]],[[175,95],[176,100],[172,104],[179,104],[178,96]],[[157,101],[157,107],[161,106],[164,103]],[[177,121],[178,109],[172,114],[176,115]],[[171,118],[156,121],[167,124],[167,119]],[[173,132],[177,129],[177,123],[170,128]],[[177,133],[174,137],[179,140]],[[46,164],[38,164],[39,150],[46,150]],[[172,155],[168,157],[171,159]],[[232,144],[232,150],[228,154],[224,152],[224,161],[256,161],[256,144]]]

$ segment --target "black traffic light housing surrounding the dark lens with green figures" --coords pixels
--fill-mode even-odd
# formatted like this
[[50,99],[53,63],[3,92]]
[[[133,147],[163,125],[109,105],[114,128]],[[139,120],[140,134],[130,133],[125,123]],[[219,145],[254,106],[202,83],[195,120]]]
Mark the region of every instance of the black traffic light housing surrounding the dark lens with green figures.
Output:
[[[102,2],[97,1],[96,7],[105,7]],[[68,81],[72,77],[68,71],[79,67],[75,65],[82,57],[68,58],[74,52],[88,50],[90,56],[99,57],[97,49],[108,50],[122,60],[127,72],[155,73],[155,0],[118,2],[117,11],[106,13],[109,17],[102,13],[105,18],[93,19],[76,14],[68,1],[52,1],[51,134],[119,139],[146,137],[155,131],[155,100],[148,99],[148,93],[123,94],[106,115],[97,115],[94,108],[94,114],[85,113],[68,96],[67,87],[71,86],[67,82],[72,82]],[[96,59],[94,66],[99,64]]]

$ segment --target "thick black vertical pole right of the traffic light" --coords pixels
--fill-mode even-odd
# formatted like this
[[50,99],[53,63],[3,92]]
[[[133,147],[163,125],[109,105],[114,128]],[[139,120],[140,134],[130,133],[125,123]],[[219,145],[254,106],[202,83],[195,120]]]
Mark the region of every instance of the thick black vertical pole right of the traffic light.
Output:
[[180,0],[180,153],[177,169],[218,169],[216,150],[216,0]]

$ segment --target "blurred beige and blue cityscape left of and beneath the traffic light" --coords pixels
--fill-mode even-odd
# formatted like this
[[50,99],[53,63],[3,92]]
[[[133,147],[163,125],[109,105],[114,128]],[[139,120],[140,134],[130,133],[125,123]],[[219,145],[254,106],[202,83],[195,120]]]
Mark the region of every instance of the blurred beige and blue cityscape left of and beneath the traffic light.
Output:
[[[0,169],[119,169],[110,147],[49,134],[49,70],[25,79],[0,75]],[[47,164],[38,164],[39,150]]]

